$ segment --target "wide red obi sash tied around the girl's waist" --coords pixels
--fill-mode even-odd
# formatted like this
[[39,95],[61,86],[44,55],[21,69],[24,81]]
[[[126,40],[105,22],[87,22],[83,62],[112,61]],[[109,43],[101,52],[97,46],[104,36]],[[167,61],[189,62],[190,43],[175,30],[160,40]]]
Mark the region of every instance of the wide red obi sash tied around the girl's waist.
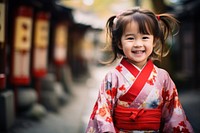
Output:
[[114,122],[117,129],[158,131],[160,119],[160,109],[135,109],[118,105],[114,110]]

